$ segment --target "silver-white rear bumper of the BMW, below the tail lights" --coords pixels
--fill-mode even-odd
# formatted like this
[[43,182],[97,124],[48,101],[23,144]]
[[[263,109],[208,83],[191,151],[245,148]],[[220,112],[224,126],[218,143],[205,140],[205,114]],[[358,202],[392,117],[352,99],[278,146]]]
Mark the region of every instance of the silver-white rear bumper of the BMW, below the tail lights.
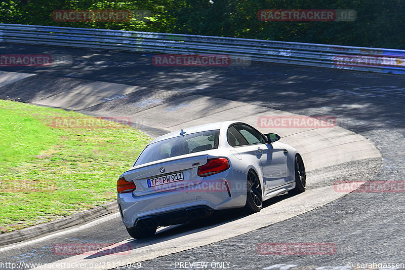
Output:
[[[133,193],[118,194],[117,200],[121,217],[127,227],[133,227],[136,221],[142,219],[146,221],[149,219],[149,225],[152,223],[158,224],[157,226],[179,224],[194,216],[191,210],[187,209],[203,207],[211,212],[243,207],[246,203],[246,176],[240,172],[228,170],[205,177],[203,182],[187,188],[139,197],[134,196]],[[165,223],[164,220],[167,222]]]

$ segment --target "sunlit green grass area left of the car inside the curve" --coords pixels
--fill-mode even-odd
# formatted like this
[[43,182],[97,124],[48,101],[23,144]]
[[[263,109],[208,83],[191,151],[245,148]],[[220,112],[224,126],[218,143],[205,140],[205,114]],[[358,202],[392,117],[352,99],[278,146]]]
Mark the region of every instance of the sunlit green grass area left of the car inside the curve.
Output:
[[116,199],[118,176],[150,141],[135,129],[104,120],[96,119],[104,128],[69,128],[52,125],[55,118],[92,117],[0,100],[2,233]]

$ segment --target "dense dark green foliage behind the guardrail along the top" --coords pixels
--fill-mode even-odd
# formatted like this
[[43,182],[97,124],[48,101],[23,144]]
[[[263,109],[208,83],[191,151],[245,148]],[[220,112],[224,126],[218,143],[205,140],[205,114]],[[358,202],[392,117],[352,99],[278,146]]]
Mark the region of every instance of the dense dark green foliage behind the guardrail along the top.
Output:
[[[129,22],[55,22],[54,10],[148,10]],[[353,22],[263,22],[261,9],[353,9]],[[0,22],[405,49],[403,0],[9,0]],[[136,12],[135,12],[136,13]]]

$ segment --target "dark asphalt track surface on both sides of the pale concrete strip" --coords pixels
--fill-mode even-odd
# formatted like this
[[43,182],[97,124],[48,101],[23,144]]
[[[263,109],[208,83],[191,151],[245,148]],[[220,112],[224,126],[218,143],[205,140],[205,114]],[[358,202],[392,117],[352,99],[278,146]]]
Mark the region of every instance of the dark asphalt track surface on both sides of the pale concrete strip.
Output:
[[[0,44],[0,49],[2,54],[47,53],[73,56],[71,67],[0,68],[5,71],[41,74],[44,82],[68,82],[69,78],[74,78],[122,83],[147,87],[151,91],[171,90],[179,92],[179,95],[199,94],[248,102],[304,115],[333,116],[337,119],[337,125],[365,136],[381,151],[384,158],[382,167],[372,180],[403,181],[405,76],[269,63],[252,63],[248,67],[155,67],[151,64],[149,54],[5,44]],[[16,96],[11,91],[7,93],[7,89],[17,88],[25,80],[2,88],[0,98],[9,96],[12,99],[29,101],[30,97],[26,93],[20,93],[21,96]],[[46,95],[46,89],[42,91]],[[125,103],[125,99],[122,102]],[[98,109],[100,108],[96,106],[88,109],[88,112]],[[369,162],[365,167],[369,166],[371,169],[361,174],[365,178],[380,165],[375,159]],[[350,165],[351,163],[347,163],[341,166],[346,168],[329,169],[336,170],[337,175],[340,175],[342,170],[350,170]],[[353,193],[324,207],[245,235],[144,261],[142,269],[181,268],[181,265],[184,268],[197,261],[209,262],[209,269],[219,268],[221,265],[228,267],[229,263],[231,269],[267,267],[282,270],[318,267],[365,269],[372,268],[365,265],[366,263],[382,263],[380,266],[383,263],[405,263],[405,238],[402,233],[405,228],[404,212],[405,197],[401,192]],[[220,222],[237,218],[234,213],[227,215]],[[178,229],[184,233],[195,228],[193,226],[196,225],[176,227],[150,241],[176,237]],[[97,228],[64,236],[57,241],[109,243],[126,238],[128,236],[123,224],[119,219],[114,219]],[[41,251],[42,253],[32,252],[57,243],[55,241],[4,252],[0,254],[0,261],[21,261],[31,253],[35,254],[31,256],[31,262],[61,259],[63,256],[53,255],[49,249],[47,252]],[[333,243],[336,252],[330,255],[262,255],[258,252],[260,243]],[[405,266],[391,269],[394,268],[405,269]]]

